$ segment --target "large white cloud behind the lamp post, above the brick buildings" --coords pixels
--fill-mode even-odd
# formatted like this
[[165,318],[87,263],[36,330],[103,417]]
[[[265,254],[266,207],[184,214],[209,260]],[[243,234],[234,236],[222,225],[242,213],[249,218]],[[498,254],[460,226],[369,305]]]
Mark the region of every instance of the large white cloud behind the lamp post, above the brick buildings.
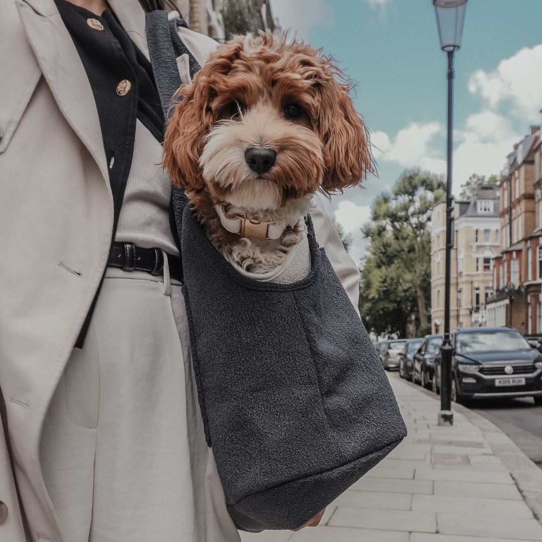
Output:
[[[542,106],[542,45],[524,48],[509,59],[502,60],[492,72],[477,70],[469,79],[468,89],[482,98],[478,113],[467,117],[454,130],[453,191],[472,173],[499,173],[506,160],[524,135],[513,127],[513,120],[527,124],[539,120]],[[378,161],[396,162],[402,167],[421,166],[435,173],[446,172],[446,149],[442,138],[445,126],[438,122],[412,122],[390,138],[384,132],[372,134]]]

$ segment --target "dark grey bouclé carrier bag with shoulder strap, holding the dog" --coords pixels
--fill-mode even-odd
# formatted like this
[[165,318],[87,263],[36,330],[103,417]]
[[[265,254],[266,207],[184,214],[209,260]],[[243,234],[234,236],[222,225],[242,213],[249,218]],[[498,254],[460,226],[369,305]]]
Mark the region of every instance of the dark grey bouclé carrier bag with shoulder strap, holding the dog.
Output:
[[[166,117],[186,50],[177,24],[147,15]],[[309,275],[260,282],[212,245],[183,189],[172,200],[198,400],[228,512],[245,531],[300,527],[406,436],[388,378],[310,216]]]

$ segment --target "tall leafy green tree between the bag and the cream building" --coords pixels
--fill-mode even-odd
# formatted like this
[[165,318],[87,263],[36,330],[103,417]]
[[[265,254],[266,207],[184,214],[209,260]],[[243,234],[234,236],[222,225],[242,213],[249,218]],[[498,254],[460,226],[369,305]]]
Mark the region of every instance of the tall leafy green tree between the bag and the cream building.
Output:
[[442,176],[406,170],[391,195],[383,193],[362,228],[371,238],[360,288],[362,318],[378,334],[405,330],[406,318],[417,308],[425,326],[430,303],[431,206],[446,196]]

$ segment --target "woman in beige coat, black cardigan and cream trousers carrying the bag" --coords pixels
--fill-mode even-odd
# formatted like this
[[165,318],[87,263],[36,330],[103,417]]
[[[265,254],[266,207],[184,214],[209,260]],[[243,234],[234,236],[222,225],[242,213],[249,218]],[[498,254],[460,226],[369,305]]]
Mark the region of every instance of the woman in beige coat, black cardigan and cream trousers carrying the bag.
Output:
[[[145,10],[8,0],[0,20],[0,539],[238,541],[193,383]],[[216,43],[178,29],[203,65]],[[356,306],[359,272],[312,216]]]

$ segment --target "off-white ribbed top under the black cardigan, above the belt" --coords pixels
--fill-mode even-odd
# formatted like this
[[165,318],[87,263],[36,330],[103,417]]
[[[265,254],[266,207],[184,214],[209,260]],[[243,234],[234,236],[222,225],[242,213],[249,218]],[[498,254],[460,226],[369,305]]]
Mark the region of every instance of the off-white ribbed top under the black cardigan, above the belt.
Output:
[[178,256],[169,223],[171,178],[164,171],[162,160],[162,145],[138,119],[115,241],[141,248],[157,247]]

